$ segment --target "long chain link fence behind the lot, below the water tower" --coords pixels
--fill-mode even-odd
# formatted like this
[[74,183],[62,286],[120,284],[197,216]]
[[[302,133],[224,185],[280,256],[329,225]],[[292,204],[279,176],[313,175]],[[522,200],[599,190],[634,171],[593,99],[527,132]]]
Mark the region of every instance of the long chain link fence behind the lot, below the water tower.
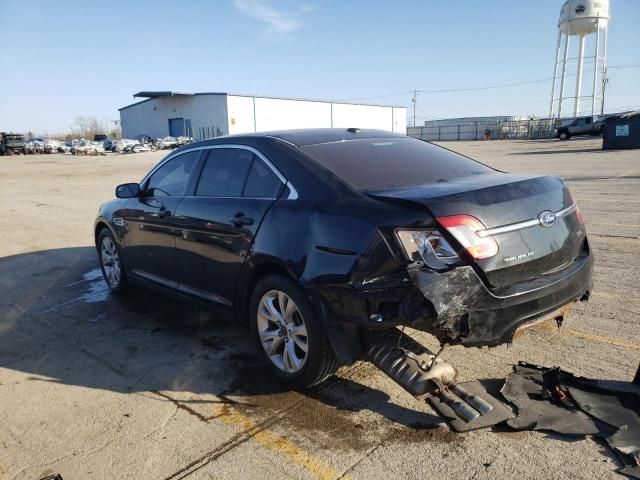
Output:
[[484,140],[485,133],[491,140],[553,138],[553,121],[549,118],[525,120],[498,120],[460,122],[438,125],[437,121],[426,126],[407,127],[407,135],[430,142]]

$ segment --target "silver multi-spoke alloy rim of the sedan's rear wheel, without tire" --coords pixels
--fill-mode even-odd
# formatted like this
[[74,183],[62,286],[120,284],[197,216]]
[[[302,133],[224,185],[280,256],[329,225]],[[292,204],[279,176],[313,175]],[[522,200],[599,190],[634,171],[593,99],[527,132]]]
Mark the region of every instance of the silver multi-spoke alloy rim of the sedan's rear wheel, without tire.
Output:
[[307,326],[300,309],[286,293],[270,290],[258,304],[260,343],[271,362],[285,373],[304,367],[309,351]]

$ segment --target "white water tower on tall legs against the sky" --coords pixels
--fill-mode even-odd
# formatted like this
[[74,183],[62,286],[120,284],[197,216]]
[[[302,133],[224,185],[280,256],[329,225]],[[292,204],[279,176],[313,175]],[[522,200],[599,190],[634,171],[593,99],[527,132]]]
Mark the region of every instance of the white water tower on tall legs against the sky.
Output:
[[[567,0],[562,5],[558,21],[556,61],[553,64],[549,118],[603,113],[608,23],[609,0]],[[572,38],[577,40],[577,49],[571,48]],[[585,55],[586,46],[589,53]],[[586,89],[588,95],[584,94],[582,85],[585,63],[588,65],[587,81],[592,80],[592,85]],[[575,77],[573,95],[566,85],[568,77]],[[596,112],[598,101],[600,108]]]

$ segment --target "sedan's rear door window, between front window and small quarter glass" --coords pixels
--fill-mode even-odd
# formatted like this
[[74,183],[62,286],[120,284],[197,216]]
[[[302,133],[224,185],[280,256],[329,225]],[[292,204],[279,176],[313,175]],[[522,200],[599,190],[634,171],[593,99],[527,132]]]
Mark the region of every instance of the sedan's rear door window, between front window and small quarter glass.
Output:
[[196,188],[197,196],[241,197],[254,154],[240,148],[209,150]]

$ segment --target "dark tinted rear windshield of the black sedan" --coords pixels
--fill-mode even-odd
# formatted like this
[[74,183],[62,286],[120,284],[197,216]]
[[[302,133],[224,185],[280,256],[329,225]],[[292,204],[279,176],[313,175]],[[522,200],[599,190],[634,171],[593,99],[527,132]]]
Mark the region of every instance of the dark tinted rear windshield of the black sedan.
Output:
[[491,168],[414,138],[367,138],[302,147],[357,190],[412,187],[493,172]]

